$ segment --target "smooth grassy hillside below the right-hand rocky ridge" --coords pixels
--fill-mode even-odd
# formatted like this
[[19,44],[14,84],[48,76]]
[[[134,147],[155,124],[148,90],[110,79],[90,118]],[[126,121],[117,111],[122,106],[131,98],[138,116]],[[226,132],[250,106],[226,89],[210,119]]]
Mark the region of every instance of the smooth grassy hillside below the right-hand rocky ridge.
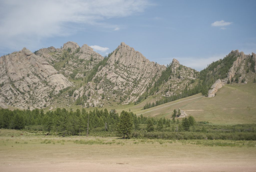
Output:
[[[181,108],[188,115],[194,116],[197,121],[209,121],[214,124],[255,123],[255,88],[255,83],[229,84],[220,88],[217,92],[217,96],[212,98],[201,97],[191,99],[201,96],[201,94],[197,94],[154,108],[139,111],[135,110],[134,112],[136,114],[144,113],[144,116],[170,118],[174,109]],[[172,105],[175,102],[180,103]]]

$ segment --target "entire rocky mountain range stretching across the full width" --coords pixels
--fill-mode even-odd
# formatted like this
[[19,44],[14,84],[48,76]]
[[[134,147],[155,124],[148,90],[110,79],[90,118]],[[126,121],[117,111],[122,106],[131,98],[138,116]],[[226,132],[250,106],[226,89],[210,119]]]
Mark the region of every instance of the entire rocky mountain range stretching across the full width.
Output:
[[224,84],[254,79],[255,62],[254,53],[236,50],[198,72],[176,59],[167,66],[151,62],[123,42],[105,57],[71,41],[34,53],[24,48],[0,58],[0,106],[103,107],[139,103],[150,95],[171,101],[204,89],[213,97]]

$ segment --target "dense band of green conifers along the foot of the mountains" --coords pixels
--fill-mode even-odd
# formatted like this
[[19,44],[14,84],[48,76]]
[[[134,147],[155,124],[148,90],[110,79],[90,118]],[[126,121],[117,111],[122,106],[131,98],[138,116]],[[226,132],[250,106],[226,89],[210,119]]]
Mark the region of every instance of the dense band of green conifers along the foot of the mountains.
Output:
[[[82,132],[104,131],[115,132],[123,137],[130,137],[132,131],[140,130],[146,125],[146,131],[163,131],[164,126],[170,127],[171,120],[166,118],[148,118],[136,116],[133,112],[122,111],[120,115],[115,109],[94,109],[80,111],[57,108],[55,111],[33,110],[0,110],[0,128],[24,129],[25,126],[41,125],[48,134],[81,135]],[[156,125],[156,127],[154,127]],[[185,129],[185,128],[184,128]]]

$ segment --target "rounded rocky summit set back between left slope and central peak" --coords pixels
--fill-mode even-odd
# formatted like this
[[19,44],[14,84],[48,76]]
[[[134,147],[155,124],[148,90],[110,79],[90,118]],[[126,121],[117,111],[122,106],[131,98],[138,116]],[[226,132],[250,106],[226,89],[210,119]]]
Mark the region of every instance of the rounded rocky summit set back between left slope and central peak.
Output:
[[87,44],[79,47],[77,43],[71,41],[63,44],[61,49],[43,48],[36,51],[35,54],[44,58],[70,79],[88,76],[90,70],[104,59]]

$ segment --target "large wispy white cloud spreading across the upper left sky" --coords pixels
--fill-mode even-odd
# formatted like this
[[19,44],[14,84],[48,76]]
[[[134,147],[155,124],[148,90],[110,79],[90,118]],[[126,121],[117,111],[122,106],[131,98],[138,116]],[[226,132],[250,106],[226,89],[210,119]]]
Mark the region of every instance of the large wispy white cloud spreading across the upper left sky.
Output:
[[[143,12],[148,0],[2,0],[0,47],[36,46],[44,38],[71,35],[87,25]],[[113,27],[112,27],[113,28]]]

